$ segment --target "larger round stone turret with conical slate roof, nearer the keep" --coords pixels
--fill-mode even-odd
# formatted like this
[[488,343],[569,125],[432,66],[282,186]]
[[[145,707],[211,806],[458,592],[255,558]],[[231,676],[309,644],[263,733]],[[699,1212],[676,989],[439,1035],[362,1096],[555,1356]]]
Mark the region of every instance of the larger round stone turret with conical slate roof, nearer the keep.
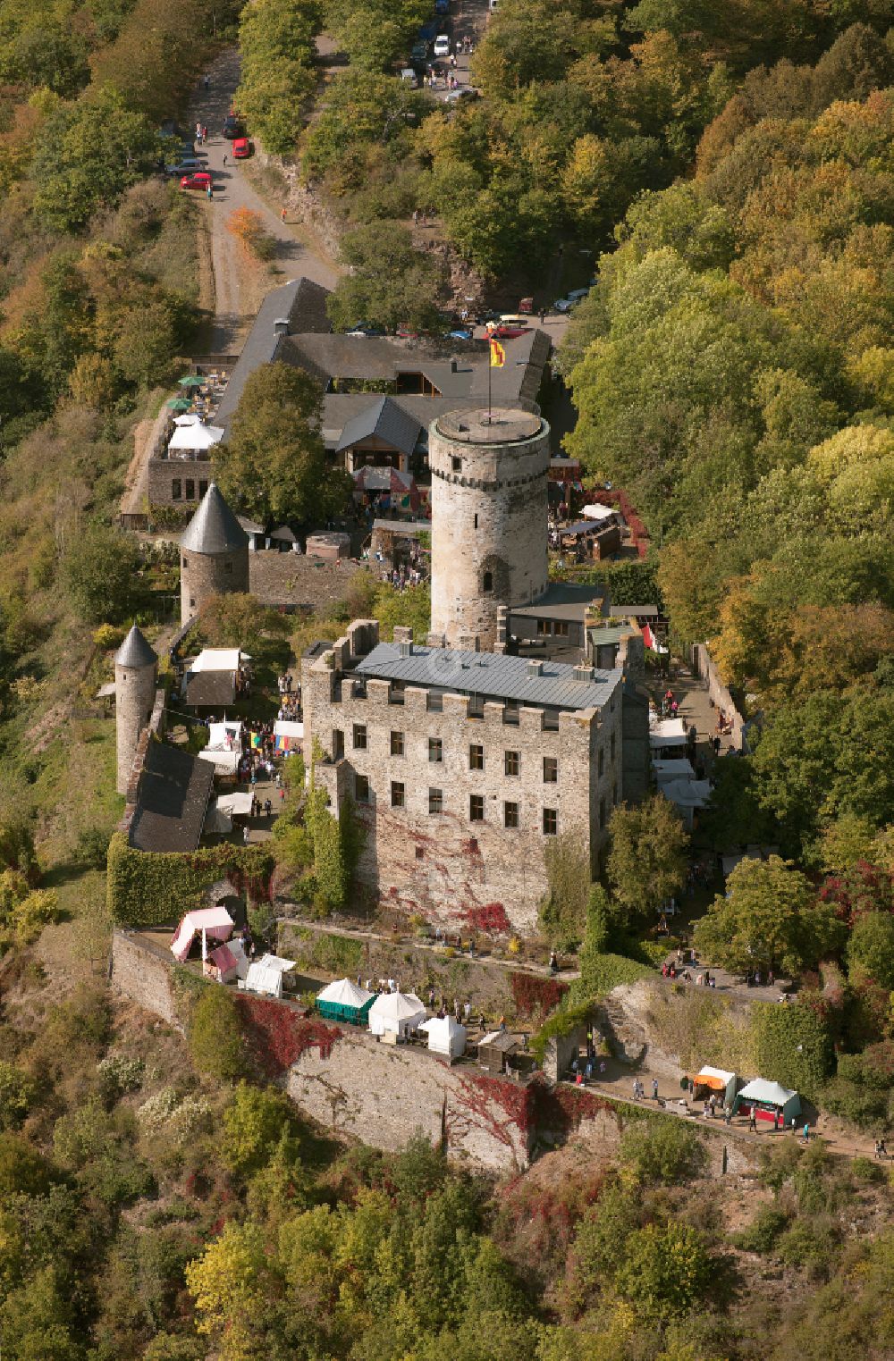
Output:
[[248,535],[212,482],[180,540],[180,622],[211,595],[248,591]]

